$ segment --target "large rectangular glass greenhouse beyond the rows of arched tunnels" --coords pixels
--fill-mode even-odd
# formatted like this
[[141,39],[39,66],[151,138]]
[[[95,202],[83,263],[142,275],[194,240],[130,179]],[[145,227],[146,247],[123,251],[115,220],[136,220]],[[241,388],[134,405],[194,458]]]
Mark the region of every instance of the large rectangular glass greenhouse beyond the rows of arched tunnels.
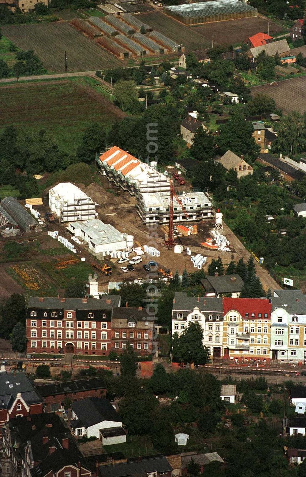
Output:
[[257,16],[257,9],[239,0],[212,0],[165,7],[164,13],[185,25],[239,20]]

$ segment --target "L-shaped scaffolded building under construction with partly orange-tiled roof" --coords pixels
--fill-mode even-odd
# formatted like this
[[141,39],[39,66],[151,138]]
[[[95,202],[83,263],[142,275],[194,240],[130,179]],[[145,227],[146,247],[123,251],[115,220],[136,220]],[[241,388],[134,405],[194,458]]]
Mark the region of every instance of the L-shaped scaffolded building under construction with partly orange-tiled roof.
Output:
[[[158,172],[156,162],[148,165],[117,146],[101,154],[96,161],[102,175],[136,196],[137,213],[144,223],[169,222],[170,180]],[[211,200],[203,192],[183,193],[179,199],[174,198],[174,222],[210,218],[211,214]]]

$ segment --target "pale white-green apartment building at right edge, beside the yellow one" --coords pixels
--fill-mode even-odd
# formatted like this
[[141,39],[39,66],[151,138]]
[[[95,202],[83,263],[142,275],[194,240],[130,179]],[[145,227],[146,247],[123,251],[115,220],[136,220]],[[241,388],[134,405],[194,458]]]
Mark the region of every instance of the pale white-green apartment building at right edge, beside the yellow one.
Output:
[[301,290],[274,291],[270,357],[306,361],[306,296]]

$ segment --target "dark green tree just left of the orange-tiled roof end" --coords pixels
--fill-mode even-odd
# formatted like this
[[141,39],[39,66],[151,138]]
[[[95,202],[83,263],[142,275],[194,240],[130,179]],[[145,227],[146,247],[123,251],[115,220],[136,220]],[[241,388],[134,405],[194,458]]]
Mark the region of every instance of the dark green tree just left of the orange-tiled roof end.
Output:
[[76,154],[85,163],[95,160],[95,154],[104,151],[106,146],[106,131],[101,124],[94,123],[85,129],[82,144],[77,148]]

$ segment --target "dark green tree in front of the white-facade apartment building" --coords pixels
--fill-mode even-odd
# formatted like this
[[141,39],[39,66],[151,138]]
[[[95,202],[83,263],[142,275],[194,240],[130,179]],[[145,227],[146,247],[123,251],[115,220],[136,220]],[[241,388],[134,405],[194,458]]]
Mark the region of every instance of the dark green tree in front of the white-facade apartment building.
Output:
[[[190,322],[178,338],[179,351],[176,353],[181,355],[182,361],[193,363],[195,365],[205,364],[209,358],[209,352],[203,345],[203,330],[199,323]],[[176,338],[174,338],[173,345],[177,346]]]

